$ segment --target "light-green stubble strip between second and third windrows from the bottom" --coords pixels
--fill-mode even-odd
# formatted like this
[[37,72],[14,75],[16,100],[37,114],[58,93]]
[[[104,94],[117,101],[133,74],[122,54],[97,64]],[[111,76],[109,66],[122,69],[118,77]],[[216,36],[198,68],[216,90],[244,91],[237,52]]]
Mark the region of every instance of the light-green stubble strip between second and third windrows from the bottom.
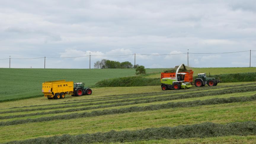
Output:
[[[156,104],[164,104],[164,103],[170,103],[170,102],[187,102],[187,101],[193,101],[193,100],[207,100],[210,98],[228,98],[228,97],[240,97],[241,95],[246,95],[246,97],[250,97],[255,95],[255,92],[245,92],[245,93],[233,93],[233,94],[224,94],[224,95],[215,95],[215,96],[204,96],[204,97],[193,97],[193,98],[187,98],[187,99],[176,99],[176,100],[168,100],[168,101],[155,101],[151,103],[146,103],[145,101],[141,101],[139,103],[123,103],[121,105],[119,104],[107,104],[107,105],[96,105],[95,107],[78,107],[78,108],[72,108],[72,109],[60,109],[56,111],[46,111],[46,112],[36,112],[36,113],[10,113],[8,115],[1,116],[1,121],[10,121],[10,120],[18,120],[18,119],[34,119],[39,117],[45,117],[45,116],[57,116],[57,115],[64,115],[64,114],[71,114],[73,112],[77,113],[84,113],[84,112],[92,112],[92,111],[103,111],[107,109],[118,109],[118,108],[128,108],[131,106],[147,106],[147,105],[156,105]],[[112,106],[112,107],[111,107]]]

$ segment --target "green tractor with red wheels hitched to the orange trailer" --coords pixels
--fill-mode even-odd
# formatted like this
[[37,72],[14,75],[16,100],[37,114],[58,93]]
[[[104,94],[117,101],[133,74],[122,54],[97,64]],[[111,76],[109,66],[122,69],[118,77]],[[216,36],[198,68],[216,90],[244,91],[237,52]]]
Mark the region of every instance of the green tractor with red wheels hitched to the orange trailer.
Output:
[[203,87],[206,84],[208,86],[217,86],[217,84],[220,82],[220,80],[217,80],[215,78],[207,78],[206,73],[198,73],[198,78],[195,80],[196,87]]

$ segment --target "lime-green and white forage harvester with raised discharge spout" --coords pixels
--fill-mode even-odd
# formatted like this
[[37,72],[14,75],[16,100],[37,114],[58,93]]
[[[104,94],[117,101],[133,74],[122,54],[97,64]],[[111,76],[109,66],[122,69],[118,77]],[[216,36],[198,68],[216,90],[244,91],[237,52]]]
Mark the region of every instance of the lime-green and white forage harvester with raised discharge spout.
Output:
[[185,74],[186,73],[179,73],[180,67],[184,64],[181,64],[177,70],[175,75],[170,75],[170,77],[162,78],[161,79],[161,88],[162,90],[167,90],[167,89],[187,89],[192,87],[191,83],[189,82],[184,82]]

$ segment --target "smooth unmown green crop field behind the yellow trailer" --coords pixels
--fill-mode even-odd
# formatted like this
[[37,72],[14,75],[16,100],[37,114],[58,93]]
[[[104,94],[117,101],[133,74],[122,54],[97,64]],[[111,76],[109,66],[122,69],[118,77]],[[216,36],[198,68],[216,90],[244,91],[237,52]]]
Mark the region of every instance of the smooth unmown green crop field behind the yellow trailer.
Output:
[[[161,69],[146,69],[147,73]],[[65,79],[84,82],[94,86],[96,82],[109,78],[135,75],[135,69],[34,69],[0,68],[0,102],[42,97],[42,83]]]

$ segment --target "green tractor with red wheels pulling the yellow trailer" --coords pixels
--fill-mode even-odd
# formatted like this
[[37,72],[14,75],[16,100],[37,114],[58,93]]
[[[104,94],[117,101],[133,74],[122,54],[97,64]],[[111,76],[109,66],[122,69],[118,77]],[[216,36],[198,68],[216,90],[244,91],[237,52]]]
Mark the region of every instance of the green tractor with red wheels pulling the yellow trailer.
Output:
[[85,87],[84,83],[74,83],[74,91],[72,96],[91,95],[92,89]]

